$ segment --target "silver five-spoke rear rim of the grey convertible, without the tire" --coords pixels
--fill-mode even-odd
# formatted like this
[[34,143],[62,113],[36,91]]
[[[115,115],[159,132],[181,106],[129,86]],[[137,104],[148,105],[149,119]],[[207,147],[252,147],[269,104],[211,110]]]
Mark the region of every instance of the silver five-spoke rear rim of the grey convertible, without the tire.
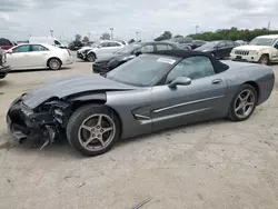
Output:
[[256,97],[249,89],[242,90],[235,102],[235,112],[238,118],[247,118],[252,112],[256,104]]

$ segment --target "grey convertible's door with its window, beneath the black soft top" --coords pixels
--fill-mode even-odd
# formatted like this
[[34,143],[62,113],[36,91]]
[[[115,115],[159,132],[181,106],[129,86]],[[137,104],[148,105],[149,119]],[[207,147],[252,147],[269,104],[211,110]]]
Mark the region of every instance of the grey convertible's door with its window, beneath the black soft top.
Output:
[[[191,83],[169,88],[168,83],[178,77],[188,77]],[[208,57],[183,59],[167,74],[163,84],[152,88],[153,131],[226,116],[226,93],[225,76],[216,73]]]

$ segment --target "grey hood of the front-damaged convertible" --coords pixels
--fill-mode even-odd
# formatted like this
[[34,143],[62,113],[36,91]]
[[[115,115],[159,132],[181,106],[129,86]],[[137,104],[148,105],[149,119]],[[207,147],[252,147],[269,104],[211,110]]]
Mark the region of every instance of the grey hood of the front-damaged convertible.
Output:
[[46,86],[30,91],[27,98],[23,99],[23,103],[33,109],[53,97],[64,98],[88,91],[132,89],[136,89],[136,87],[116,82],[99,74],[71,77],[54,82],[48,82]]

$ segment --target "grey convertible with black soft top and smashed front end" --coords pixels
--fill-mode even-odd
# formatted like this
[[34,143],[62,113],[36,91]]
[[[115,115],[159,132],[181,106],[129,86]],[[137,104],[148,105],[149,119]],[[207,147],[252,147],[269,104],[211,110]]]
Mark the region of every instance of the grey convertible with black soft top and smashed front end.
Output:
[[103,77],[58,80],[22,94],[10,106],[7,122],[19,142],[42,140],[44,147],[64,136],[82,155],[97,156],[120,138],[215,118],[246,120],[274,84],[266,66],[160,51]]

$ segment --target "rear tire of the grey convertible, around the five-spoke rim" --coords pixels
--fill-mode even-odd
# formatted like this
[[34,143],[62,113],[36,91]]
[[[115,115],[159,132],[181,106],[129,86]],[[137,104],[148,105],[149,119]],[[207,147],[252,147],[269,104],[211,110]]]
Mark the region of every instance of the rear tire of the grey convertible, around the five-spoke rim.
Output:
[[[245,93],[247,94],[247,92],[250,92],[250,97],[254,97],[252,99],[248,99],[246,101],[242,101],[239,97],[242,98],[242,96],[245,97]],[[228,119],[232,120],[232,121],[244,121],[247,120],[254,112],[254,110],[256,109],[257,106],[257,101],[258,101],[258,92],[256,91],[256,89],[250,86],[250,84],[242,84],[240,86],[240,88],[237,90],[237,92],[235,93],[231,102],[230,102],[230,107],[229,107],[229,112],[228,112]],[[239,109],[237,111],[238,108],[240,108],[239,103],[242,102],[244,103],[254,103],[252,106],[249,104],[247,106],[247,112],[244,116],[239,116],[240,111],[245,111],[245,109]]]

